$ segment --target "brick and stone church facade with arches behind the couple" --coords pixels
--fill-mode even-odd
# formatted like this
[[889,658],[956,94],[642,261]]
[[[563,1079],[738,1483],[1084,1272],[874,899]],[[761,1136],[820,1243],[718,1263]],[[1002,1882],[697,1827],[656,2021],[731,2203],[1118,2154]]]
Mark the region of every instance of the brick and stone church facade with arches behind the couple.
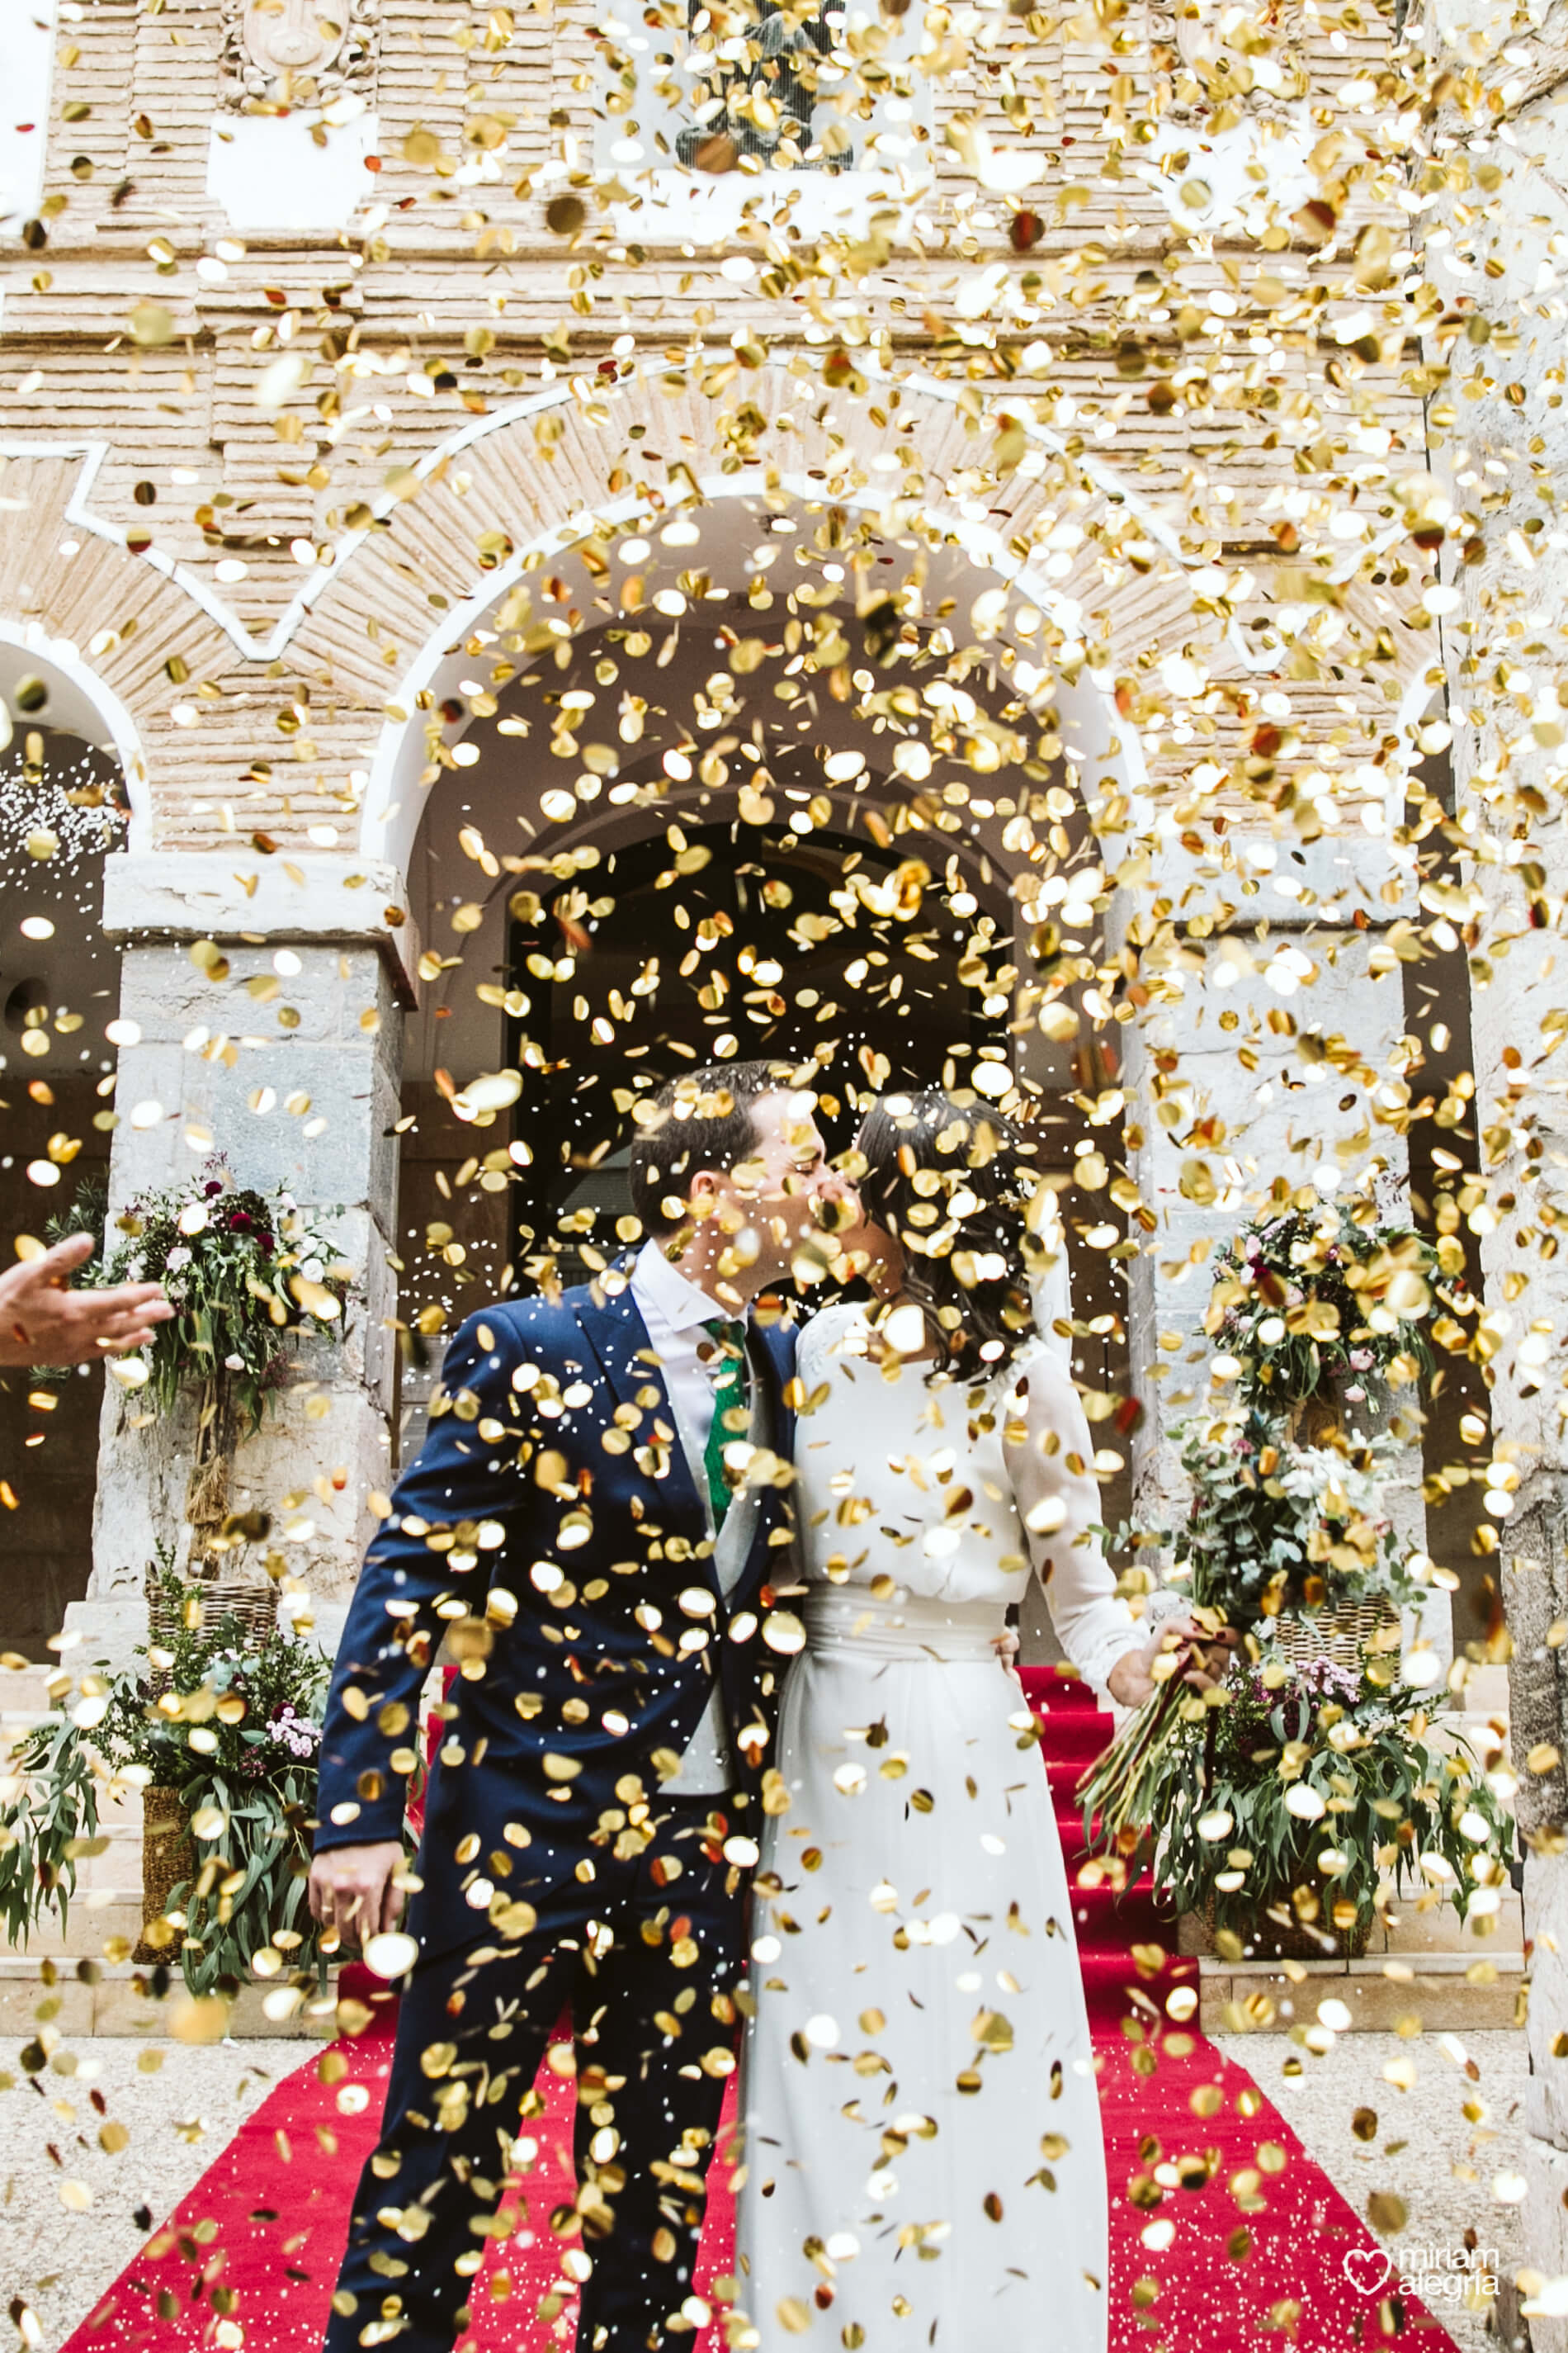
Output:
[[[1218,1238],[1269,1188],[1413,1191],[1476,1299],[1410,1449],[1455,1572],[1420,1640],[1493,1708],[1507,1607],[1516,1746],[1552,1744],[1547,21],[336,19],[61,0],[19,47],[9,1231],[207,1155],[331,1221],[346,1332],[235,1471],[327,1633],[442,1332],[562,1219],[576,1266],[614,1247],[651,965],[689,1059],[816,1059],[844,1115],[931,1071],[1037,1125],[1126,1508],[1211,1393]],[[1493,1548],[1439,1475],[1476,1402]],[[129,1647],[193,1433],[115,1384],[5,1414],[12,1640],[68,1609]],[[1521,1798],[1547,2019],[1559,1784]]]

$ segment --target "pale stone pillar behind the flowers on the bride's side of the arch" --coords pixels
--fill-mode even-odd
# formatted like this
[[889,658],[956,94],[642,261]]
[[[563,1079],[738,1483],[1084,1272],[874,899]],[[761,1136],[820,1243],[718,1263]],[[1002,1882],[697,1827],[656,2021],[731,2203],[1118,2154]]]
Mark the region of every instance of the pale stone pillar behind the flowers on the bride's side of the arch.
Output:
[[[1302,845],[1251,828],[1222,840],[1213,854],[1168,845],[1159,896],[1190,920],[1164,946],[1143,939],[1154,1002],[1124,1028],[1126,1162],[1159,1219],[1128,1268],[1143,1405],[1133,1518],[1145,1527],[1182,1508],[1175,1426],[1225,1398],[1222,1384],[1211,1388],[1215,1344],[1204,1334],[1218,1247],[1281,1176],[1319,1193],[1371,1184],[1392,1212],[1406,1188],[1410,1089],[1394,1078],[1406,1014],[1399,960],[1380,934],[1410,911],[1413,852],[1366,833]],[[1288,894],[1272,889],[1276,875]],[[1152,932],[1147,894],[1124,896],[1124,936],[1128,922]],[[1368,929],[1354,927],[1356,911]],[[1392,1504],[1420,1546],[1415,1447]],[[1406,1647],[1418,1640],[1443,1666],[1453,1657],[1448,1595],[1436,1588],[1420,1624],[1406,1619]]]

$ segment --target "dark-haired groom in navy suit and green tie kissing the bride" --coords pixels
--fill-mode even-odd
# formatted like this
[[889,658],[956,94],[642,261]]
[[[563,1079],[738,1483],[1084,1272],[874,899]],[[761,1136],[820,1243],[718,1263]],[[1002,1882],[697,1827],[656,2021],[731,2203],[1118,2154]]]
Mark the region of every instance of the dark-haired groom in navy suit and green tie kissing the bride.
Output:
[[771,1581],[792,1581],[795,1334],[757,1299],[839,1193],[788,1080],[733,1064],[663,1089],[632,1148],[635,1264],[468,1318],[360,1574],[310,1868],[310,1906],[346,1939],[402,1904],[442,1633],[461,1675],[327,2353],[449,2353],[567,2007],[578,2195],[529,2224],[581,2280],[578,2353],[691,2334],[785,1666],[769,1633],[792,1647]]

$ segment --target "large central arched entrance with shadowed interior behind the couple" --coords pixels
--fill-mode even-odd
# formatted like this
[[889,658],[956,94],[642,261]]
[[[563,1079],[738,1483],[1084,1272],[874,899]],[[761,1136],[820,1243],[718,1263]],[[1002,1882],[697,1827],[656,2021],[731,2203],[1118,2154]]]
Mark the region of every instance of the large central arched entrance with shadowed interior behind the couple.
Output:
[[[1039,671],[1018,678],[1004,647],[976,654],[945,626],[987,593],[961,558],[919,621],[879,635],[867,591],[830,631],[832,567],[853,553],[842,518],[736,504],[712,544],[710,522],[675,527],[679,600],[656,602],[649,544],[618,593],[602,551],[562,553],[527,612],[505,591],[470,628],[451,694],[425,694],[442,758],[409,781],[428,991],[404,1061],[404,1457],[454,1320],[618,1247],[632,1104],[698,1056],[825,1049],[839,1144],[863,1094],[980,1078],[1039,1129],[1046,1169],[1093,1172],[1065,1195],[1060,1339],[1098,1398],[1131,1386],[1112,1257],[1126,1235],[1105,1198],[1117,1033],[1074,1045],[1072,1024],[1037,1021],[1041,958],[1081,988],[1110,955],[1103,880],[1084,899],[1063,882],[1098,875],[1084,715],[1070,729]],[[792,574],[776,595],[764,558],[780,546]],[[875,534],[856,546],[882,565]],[[623,544],[611,560],[630,560]],[[1100,795],[1112,758],[1100,741]],[[484,1073],[520,1094],[491,1089],[475,1118]],[[1095,1435],[1121,1464],[1126,1433]],[[1105,1475],[1117,1525],[1126,1492],[1110,1461]]]

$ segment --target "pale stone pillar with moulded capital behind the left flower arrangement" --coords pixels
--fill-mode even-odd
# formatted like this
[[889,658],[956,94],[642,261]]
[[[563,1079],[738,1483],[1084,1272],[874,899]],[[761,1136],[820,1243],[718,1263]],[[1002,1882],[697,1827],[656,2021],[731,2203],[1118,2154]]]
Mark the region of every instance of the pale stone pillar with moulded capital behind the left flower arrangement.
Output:
[[[249,889],[247,889],[249,885]],[[343,859],[122,854],[103,927],[122,944],[110,1219],[223,1155],[240,1184],[284,1188],[353,1266],[341,1327],[287,1344],[289,1379],[235,1457],[235,1511],[266,1511],[331,1640],[388,1487],[402,1009],[416,941],[402,880]],[[193,953],[195,951],[195,953]],[[160,1544],[183,1558],[195,1412],[153,1417],[106,1384],[94,1567],[68,1631],[122,1657],[146,1624]],[[96,1645],[96,1649],[92,1647]]]

